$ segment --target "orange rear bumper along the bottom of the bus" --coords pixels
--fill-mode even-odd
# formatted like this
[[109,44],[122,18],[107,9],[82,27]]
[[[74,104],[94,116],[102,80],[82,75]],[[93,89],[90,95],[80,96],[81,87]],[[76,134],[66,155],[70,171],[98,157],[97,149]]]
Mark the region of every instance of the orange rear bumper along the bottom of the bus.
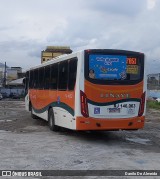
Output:
[[77,117],[76,130],[136,130],[144,127],[145,117],[97,119]]

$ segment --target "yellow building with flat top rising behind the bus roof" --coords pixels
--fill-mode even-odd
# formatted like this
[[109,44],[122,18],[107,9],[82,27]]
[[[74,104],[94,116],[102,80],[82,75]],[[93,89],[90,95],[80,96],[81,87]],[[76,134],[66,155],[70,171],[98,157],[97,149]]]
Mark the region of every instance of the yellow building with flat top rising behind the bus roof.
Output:
[[46,50],[41,52],[41,63],[63,54],[70,54],[72,50],[69,46],[47,46]]

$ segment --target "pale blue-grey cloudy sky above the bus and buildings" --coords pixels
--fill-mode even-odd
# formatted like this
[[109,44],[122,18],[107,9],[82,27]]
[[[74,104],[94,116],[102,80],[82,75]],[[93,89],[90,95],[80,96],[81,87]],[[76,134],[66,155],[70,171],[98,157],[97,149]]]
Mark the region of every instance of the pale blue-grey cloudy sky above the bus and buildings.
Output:
[[144,52],[160,72],[159,0],[1,0],[0,62],[40,64],[48,45]]

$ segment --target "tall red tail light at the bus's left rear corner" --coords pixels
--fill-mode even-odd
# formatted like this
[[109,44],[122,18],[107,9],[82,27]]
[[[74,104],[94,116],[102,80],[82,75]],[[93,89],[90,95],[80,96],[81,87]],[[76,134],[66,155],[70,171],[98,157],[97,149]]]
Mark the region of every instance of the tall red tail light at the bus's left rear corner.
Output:
[[84,117],[89,117],[87,96],[83,91],[80,91],[80,98],[81,98],[81,114]]

